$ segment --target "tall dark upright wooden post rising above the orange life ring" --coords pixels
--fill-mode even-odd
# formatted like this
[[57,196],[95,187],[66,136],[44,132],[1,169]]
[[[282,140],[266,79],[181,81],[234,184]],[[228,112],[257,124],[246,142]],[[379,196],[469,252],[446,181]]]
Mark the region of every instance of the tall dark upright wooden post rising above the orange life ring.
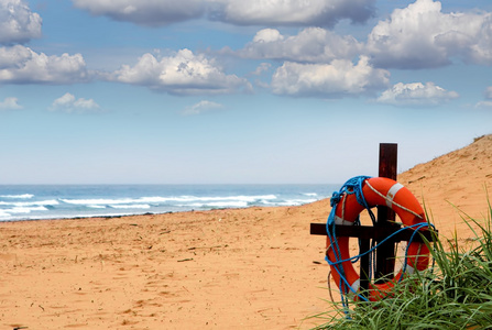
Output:
[[[395,143],[381,143],[380,144],[380,168],[379,176],[387,177],[396,180],[396,158],[397,158],[398,145]],[[384,227],[400,227],[395,224],[395,213],[387,207],[378,207],[378,228]],[[376,244],[380,242],[376,241]],[[395,242],[386,241],[380,244],[375,255],[375,283],[384,283],[393,279],[395,267]],[[384,278],[383,278],[384,277]]]

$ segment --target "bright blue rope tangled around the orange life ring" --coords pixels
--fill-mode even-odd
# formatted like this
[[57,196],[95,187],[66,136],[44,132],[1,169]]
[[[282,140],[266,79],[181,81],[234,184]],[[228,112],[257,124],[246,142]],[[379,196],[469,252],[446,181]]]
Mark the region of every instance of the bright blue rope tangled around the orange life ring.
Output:
[[[417,231],[419,231],[420,229],[423,229],[425,227],[429,227],[429,223],[427,223],[427,222],[420,222],[420,223],[403,227],[403,228],[398,229],[397,231],[395,231],[394,233],[392,233],[391,235],[389,235],[387,238],[385,238],[384,240],[382,240],[381,242],[379,242],[379,244],[376,244],[376,245],[373,244],[373,246],[369,251],[365,251],[363,253],[361,253],[361,251],[360,251],[360,241],[359,241],[359,254],[356,255],[356,256],[342,260],[341,258],[340,246],[338,245],[337,235],[336,235],[336,232],[335,232],[335,211],[336,211],[336,208],[337,208],[338,204],[340,202],[341,198],[343,197],[343,195],[356,194],[357,201],[368,210],[369,215],[371,216],[371,220],[372,220],[372,222],[374,224],[375,223],[374,213],[371,211],[371,207],[368,205],[368,202],[365,200],[365,197],[363,195],[363,191],[362,191],[363,183],[364,183],[365,179],[369,179],[369,178],[371,178],[371,177],[370,176],[357,176],[357,177],[353,177],[353,178],[347,180],[347,183],[343,184],[343,186],[340,188],[339,191],[335,191],[332,194],[331,200],[330,200],[331,211],[330,211],[330,213],[328,216],[328,220],[327,220],[327,223],[326,223],[326,231],[328,233],[328,238],[330,240],[331,249],[334,250],[335,260],[336,261],[331,262],[328,258],[328,255],[325,256],[325,260],[328,262],[328,264],[330,266],[334,266],[334,268],[336,270],[336,272],[338,273],[338,275],[340,277],[338,287],[340,289],[340,296],[341,296],[342,305],[343,305],[345,312],[347,314],[347,316],[348,316],[348,302],[349,302],[347,296],[349,294],[349,290],[351,290],[354,295],[357,295],[360,299],[362,299],[364,301],[368,301],[368,298],[365,298],[364,296],[358,294],[351,287],[351,285],[348,283],[348,280],[346,278],[345,271],[343,271],[342,263],[348,262],[348,261],[350,261],[352,263],[356,263],[357,261],[359,261],[359,258],[361,256],[363,256],[365,254],[370,254],[371,256],[370,256],[369,280],[371,280],[372,273],[373,273],[371,264],[374,264],[373,263],[373,260],[374,260],[374,253],[373,252],[378,249],[378,246],[380,244],[383,244],[387,240],[392,239],[394,235],[403,232],[404,230],[415,229],[414,232],[412,233],[411,239],[408,240],[408,244],[407,244],[407,248],[405,250],[405,261],[404,261],[403,268],[402,268],[402,273],[405,274],[406,266],[407,266],[406,264],[407,264],[407,260],[408,260],[408,246],[412,244],[412,242],[413,242]],[[360,226],[359,217],[356,220],[354,226]],[[433,226],[433,228],[434,228],[434,226]],[[398,283],[402,279],[403,279],[403,276],[400,277]]]

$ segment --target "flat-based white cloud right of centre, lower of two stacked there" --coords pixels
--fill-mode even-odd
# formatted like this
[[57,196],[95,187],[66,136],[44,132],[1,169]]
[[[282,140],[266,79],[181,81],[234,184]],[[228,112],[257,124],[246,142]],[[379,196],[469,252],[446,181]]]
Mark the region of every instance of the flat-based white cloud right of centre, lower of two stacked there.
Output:
[[361,56],[358,64],[336,59],[331,64],[286,62],[272,77],[272,91],[295,97],[336,98],[370,94],[389,84],[390,73],[374,69]]

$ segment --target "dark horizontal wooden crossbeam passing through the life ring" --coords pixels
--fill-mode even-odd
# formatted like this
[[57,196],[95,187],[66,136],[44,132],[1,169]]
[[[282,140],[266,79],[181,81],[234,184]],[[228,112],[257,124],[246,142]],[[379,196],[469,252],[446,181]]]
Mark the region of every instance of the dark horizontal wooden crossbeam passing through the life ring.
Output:
[[[381,241],[385,238],[394,234],[398,228],[381,228],[381,227],[372,227],[372,226],[335,226],[335,232],[337,237],[349,237],[349,238],[359,238],[362,240],[376,240]],[[413,229],[404,230],[396,233],[392,241],[401,242],[401,241],[409,241],[412,234],[415,231]],[[326,223],[311,223],[310,224],[310,234],[311,235],[328,235],[326,232]],[[419,230],[417,234],[414,235],[415,242],[424,242],[422,235],[426,238],[427,241],[434,241],[434,238],[437,237],[437,232],[430,232],[428,230]]]

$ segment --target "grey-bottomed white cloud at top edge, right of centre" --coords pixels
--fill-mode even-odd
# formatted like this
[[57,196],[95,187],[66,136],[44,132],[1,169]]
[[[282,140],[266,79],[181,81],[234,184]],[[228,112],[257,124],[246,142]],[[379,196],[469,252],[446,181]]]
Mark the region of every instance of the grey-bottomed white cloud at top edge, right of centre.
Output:
[[210,18],[238,25],[334,26],[374,15],[374,0],[209,0]]

